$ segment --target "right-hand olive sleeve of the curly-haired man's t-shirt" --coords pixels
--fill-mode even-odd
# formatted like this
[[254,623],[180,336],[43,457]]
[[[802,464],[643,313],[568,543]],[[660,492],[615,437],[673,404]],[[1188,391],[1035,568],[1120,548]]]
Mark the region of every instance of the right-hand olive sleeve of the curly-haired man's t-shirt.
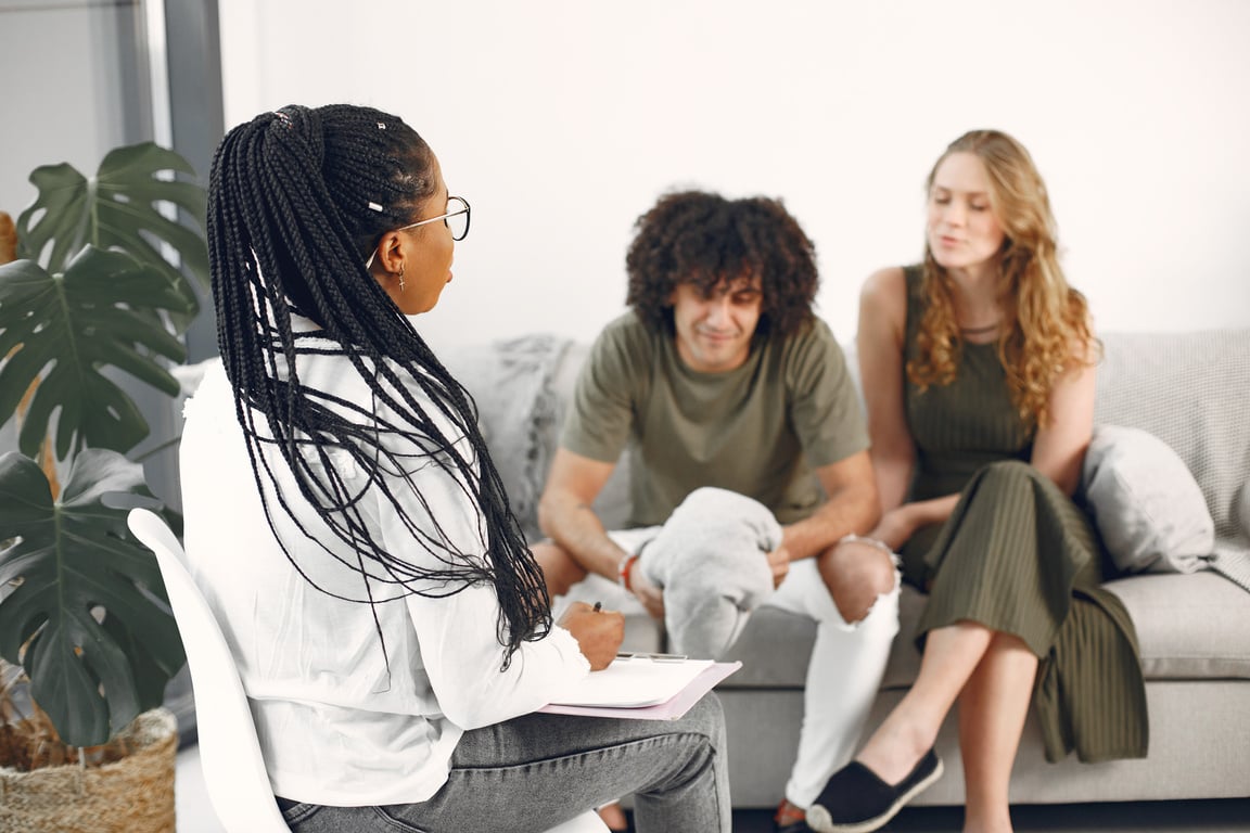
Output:
[[864,407],[846,355],[824,321],[792,340],[786,380],[794,430],[812,468],[869,447]]

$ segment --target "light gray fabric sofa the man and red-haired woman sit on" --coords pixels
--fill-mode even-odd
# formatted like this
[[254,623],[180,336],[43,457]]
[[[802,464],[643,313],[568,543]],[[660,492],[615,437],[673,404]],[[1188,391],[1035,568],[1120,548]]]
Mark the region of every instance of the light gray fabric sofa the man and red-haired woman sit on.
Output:
[[[1250,330],[1110,333],[1095,421],[1149,431],[1194,473],[1214,521],[1214,559],[1198,572],[1149,572],[1108,583],[1138,628],[1150,711],[1150,754],[1140,761],[1050,764],[1032,718],[1011,779],[1012,803],[1250,797]],[[531,336],[445,355],[474,395],[480,423],[526,533],[565,403],[588,346]],[[849,356],[854,366],[854,356]],[[625,517],[628,471],[598,501],[611,526]],[[1218,567],[1220,571],[1215,569]],[[1238,583],[1240,581],[1245,586]],[[912,633],[922,597],[901,599],[901,631],[869,729],[915,678]],[[761,611],[732,657],[742,669],[718,688],[729,726],[735,807],[774,807],[799,734],[814,627]],[[629,622],[635,649],[661,649],[645,616]],[[918,804],[961,804],[962,772],[951,714],[938,742],[946,774]]]

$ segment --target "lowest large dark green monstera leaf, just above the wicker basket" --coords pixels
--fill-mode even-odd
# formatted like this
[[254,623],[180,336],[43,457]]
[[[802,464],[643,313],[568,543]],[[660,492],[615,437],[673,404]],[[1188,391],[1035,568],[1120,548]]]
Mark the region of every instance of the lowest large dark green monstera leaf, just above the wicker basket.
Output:
[[[60,501],[28,457],[0,457],[0,656],[26,669],[61,739],[105,743],[160,704],[186,662],[156,558],[126,527],[156,501],[119,453],[79,455]],[[101,624],[102,617],[106,624]]]

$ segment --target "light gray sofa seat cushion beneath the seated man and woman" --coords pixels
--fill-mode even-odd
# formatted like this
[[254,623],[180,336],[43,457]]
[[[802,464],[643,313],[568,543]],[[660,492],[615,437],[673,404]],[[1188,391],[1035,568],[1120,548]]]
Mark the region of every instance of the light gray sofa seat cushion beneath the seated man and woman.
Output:
[[[1138,627],[1141,669],[1150,679],[1250,679],[1250,593],[1212,572],[1151,573],[1108,582]],[[924,596],[904,586],[899,636],[882,688],[906,688],[920,671],[915,646]],[[729,659],[742,668],[724,688],[801,688],[816,637],[811,619],[756,611]]]

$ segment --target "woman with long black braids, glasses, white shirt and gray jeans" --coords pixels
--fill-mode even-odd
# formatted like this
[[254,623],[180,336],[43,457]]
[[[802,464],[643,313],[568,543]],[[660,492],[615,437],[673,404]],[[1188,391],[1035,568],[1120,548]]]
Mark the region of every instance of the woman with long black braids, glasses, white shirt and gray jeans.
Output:
[[678,722],[538,714],[615,656],[559,623],[412,316],[469,204],[400,119],[290,106],[209,189],[220,365],[188,402],[185,542],[292,831],[544,831],[635,793],[639,831],[729,831],[715,698]]

